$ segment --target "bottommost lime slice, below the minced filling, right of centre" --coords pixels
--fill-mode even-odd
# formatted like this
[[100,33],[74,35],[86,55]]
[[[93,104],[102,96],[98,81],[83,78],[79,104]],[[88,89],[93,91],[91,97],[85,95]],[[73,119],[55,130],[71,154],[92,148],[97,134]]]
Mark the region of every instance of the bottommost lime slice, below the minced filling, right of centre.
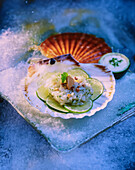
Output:
[[85,113],[85,112],[88,112],[92,108],[92,106],[93,106],[93,102],[92,102],[92,100],[89,100],[88,102],[84,103],[81,106],[65,104],[64,108],[72,113]]

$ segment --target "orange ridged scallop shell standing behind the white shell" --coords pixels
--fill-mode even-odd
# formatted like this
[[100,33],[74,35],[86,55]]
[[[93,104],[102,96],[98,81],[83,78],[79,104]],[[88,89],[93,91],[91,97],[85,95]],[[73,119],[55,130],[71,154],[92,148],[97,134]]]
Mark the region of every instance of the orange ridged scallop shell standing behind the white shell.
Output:
[[47,38],[40,50],[48,58],[71,54],[80,63],[97,63],[102,55],[112,52],[104,39],[84,33],[62,33]]

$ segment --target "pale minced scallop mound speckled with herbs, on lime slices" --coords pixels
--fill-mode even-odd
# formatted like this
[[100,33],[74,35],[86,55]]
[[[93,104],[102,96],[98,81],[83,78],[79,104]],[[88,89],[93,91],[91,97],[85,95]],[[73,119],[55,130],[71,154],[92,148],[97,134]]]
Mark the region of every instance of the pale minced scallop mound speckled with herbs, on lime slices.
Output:
[[[73,78],[73,77],[72,77]],[[79,79],[74,77],[74,85],[71,89],[66,88],[66,84],[59,83],[54,81],[53,86],[49,88],[52,97],[60,103],[72,104],[72,105],[83,105],[84,102],[87,102],[91,95],[93,94],[93,89],[86,79]],[[77,79],[77,80],[76,80]]]

